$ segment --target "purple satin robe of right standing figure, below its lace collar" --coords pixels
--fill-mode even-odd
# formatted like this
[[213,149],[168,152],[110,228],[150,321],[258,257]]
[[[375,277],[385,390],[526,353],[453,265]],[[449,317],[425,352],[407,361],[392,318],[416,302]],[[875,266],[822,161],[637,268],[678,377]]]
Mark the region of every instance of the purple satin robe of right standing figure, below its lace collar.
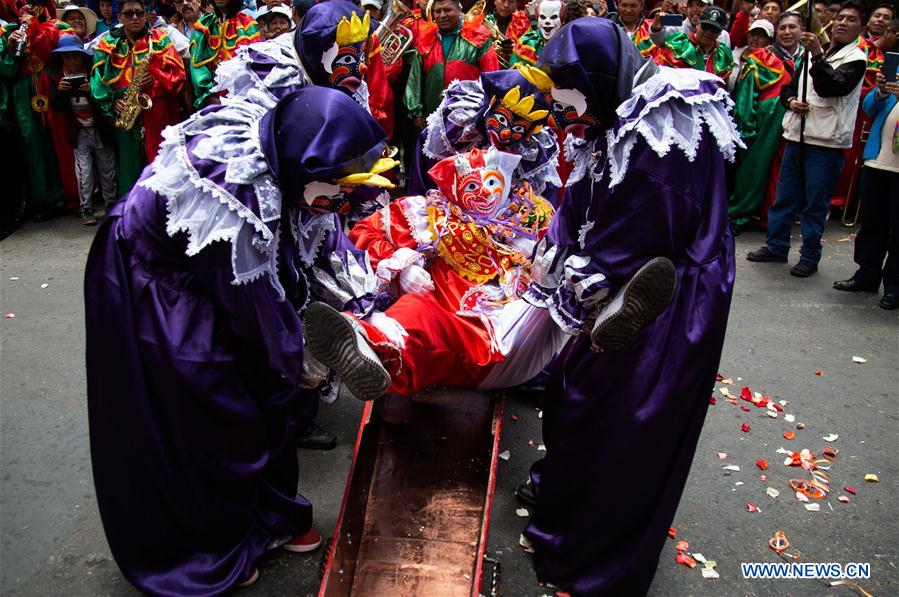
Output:
[[535,464],[537,507],[525,535],[540,580],[572,594],[644,594],[674,518],[714,385],[734,283],[724,163],[708,132],[689,162],[659,158],[641,139],[610,191],[589,179],[566,196],[553,238],[586,249],[615,290],[647,260],[670,258],[672,304],[619,353],[579,336],[547,386],[546,457]]

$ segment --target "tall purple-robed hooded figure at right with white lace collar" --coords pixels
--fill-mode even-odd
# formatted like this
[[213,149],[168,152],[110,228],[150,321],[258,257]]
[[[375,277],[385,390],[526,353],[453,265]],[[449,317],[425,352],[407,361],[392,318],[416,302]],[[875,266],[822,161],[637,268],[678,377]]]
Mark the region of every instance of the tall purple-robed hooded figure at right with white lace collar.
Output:
[[[633,340],[597,352],[580,333],[556,361],[543,414],[547,454],[531,485],[519,487],[523,500],[536,494],[522,542],[535,550],[541,581],[572,594],[642,595],[724,343],[734,281],[724,157],[733,158],[739,135],[717,77],[644,62],[611,21],[564,26],[539,66],[554,82],[556,122],[582,138],[582,172],[553,219],[549,246],[538,248],[533,269],[546,274],[525,300],[577,334],[591,306],[619,291],[593,340],[616,319]],[[658,257],[673,263],[676,289],[665,276],[640,276]],[[634,297],[660,306],[637,334],[641,320],[626,317]]]

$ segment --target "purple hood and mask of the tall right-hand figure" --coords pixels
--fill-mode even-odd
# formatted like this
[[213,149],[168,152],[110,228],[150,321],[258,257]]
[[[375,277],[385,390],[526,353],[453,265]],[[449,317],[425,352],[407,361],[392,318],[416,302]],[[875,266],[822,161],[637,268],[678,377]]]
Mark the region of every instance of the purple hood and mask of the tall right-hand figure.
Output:
[[[576,19],[546,42],[537,66],[554,82],[555,102],[573,106],[579,115],[598,120],[588,131],[588,136],[595,137],[598,127],[610,125],[615,110],[631,96],[634,75],[643,62],[634,42],[614,22]],[[564,110],[554,105],[557,121],[560,114]],[[564,122],[558,125],[566,128]]]

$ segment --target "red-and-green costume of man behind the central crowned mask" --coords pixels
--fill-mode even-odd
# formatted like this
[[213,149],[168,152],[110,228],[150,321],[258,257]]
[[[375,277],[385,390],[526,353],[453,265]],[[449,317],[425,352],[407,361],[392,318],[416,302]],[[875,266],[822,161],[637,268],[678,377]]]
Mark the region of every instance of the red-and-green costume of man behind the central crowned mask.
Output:
[[483,15],[462,23],[446,55],[435,23],[418,19],[403,101],[413,118],[427,116],[440,105],[443,90],[453,81],[473,81],[482,72],[499,69]]

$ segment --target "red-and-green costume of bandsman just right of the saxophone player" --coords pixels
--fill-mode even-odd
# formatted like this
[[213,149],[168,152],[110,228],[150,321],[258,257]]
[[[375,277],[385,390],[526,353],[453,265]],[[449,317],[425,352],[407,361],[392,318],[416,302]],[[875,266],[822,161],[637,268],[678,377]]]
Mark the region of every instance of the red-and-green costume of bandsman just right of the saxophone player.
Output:
[[199,108],[209,98],[219,63],[233,57],[240,46],[258,40],[259,25],[246,13],[223,18],[212,11],[197,19],[190,36],[190,78],[195,107]]

